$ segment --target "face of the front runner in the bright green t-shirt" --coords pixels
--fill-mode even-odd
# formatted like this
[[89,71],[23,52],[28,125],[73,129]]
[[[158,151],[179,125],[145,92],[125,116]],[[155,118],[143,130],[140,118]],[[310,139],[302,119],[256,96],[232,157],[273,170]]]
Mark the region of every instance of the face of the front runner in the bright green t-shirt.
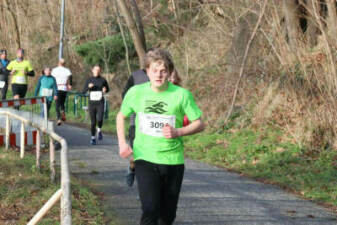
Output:
[[165,68],[163,61],[157,61],[150,64],[146,69],[146,73],[149,76],[151,86],[156,89],[164,87],[170,76],[168,70]]

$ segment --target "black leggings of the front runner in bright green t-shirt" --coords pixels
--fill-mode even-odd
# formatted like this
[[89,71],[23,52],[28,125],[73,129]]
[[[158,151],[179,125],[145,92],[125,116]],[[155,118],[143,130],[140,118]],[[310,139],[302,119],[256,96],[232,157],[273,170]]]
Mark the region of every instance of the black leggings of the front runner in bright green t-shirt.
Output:
[[142,203],[140,225],[172,225],[176,217],[184,165],[137,160],[136,179]]

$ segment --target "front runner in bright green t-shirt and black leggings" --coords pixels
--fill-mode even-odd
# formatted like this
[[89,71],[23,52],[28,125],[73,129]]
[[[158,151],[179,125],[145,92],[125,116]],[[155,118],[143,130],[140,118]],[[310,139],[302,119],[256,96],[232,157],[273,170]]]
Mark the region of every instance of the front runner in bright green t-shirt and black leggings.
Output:
[[[133,153],[136,179],[142,203],[141,225],[172,224],[184,174],[182,136],[204,129],[201,111],[192,94],[170,82],[173,70],[170,54],[155,49],[146,55],[150,82],[132,87],[117,115],[119,154]],[[124,134],[125,119],[136,113],[133,149]],[[183,127],[184,115],[191,123]]]

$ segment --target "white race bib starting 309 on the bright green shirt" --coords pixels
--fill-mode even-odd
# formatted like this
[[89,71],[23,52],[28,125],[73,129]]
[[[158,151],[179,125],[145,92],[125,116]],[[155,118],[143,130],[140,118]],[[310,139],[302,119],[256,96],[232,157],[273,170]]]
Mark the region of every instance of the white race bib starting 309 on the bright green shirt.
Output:
[[138,113],[139,130],[143,134],[153,137],[164,137],[165,124],[175,127],[176,116]]

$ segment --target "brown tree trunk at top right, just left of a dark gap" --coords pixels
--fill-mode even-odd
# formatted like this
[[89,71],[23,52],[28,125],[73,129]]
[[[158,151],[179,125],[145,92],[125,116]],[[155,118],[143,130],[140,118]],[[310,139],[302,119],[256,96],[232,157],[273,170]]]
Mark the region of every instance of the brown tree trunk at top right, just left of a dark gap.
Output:
[[288,42],[293,48],[296,48],[299,36],[297,7],[298,6],[294,0],[283,0],[283,14],[287,28]]

